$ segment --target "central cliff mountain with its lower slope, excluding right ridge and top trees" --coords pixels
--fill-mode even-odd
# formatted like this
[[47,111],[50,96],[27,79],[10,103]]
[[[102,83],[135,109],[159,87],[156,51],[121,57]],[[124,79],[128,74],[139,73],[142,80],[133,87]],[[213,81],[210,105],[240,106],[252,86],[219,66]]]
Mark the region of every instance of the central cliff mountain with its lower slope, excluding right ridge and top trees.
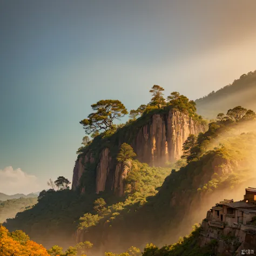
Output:
[[[5,225],[10,231],[22,229],[47,247],[75,243],[79,218],[93,211],[97,199],[104,198],[107,205],[120,209],[143,204],[146,197],[158,192],[171,170],[178,169],[179,165],[170,161],[179,159],[187,136],[205,130],[205,121],[193,110],[190,113],[186,105],[179,106],[179,102],[176,107],[149,107],[137,120],[99,134],[84,147],[73,171],[72,190],[45,192],[37,205],[18,213]],[[136,160],[117,161],[119,147],[124,143],[134,147]],[[125,177],[128,173],[129,177]],[[130,180],[129,186],[124,178]]]

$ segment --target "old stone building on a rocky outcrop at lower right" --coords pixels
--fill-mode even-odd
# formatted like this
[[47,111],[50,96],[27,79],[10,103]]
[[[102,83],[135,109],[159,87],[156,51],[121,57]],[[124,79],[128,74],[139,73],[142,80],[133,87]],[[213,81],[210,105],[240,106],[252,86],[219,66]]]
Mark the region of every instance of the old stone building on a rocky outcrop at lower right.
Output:
[[[201,224],[200,245],[218,241],[218,253],[241,255],[242,249],[256,253],[256,188],[245,189],[244,200],[223,200],[206,214]],[[222,254],[221,254],[222,255]]]

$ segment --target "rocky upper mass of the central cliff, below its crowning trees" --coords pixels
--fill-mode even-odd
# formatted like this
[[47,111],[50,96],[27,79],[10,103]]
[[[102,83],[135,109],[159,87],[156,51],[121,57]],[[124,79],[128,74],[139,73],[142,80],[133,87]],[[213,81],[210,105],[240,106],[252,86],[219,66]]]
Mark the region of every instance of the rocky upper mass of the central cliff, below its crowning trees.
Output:
[[95,138],[76,161],[72,189],[85,192],[93,187],[97,193],[109,190],[122,196],[124,168],[116,160],[121,144],[131,144],[140,162],[163,166],[180,158],[189,134],[205,129],[204,123],[179,110],[147,114],[112,136]]

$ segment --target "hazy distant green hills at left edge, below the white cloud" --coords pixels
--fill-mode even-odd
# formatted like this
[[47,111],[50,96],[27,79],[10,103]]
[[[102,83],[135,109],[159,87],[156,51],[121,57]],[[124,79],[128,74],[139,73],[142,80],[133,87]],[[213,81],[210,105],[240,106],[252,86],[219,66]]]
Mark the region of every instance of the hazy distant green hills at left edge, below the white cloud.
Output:
[[0,223],[14,218],[17,212],[23,212],[37,204],[37,198],[18,198],[0,201]]

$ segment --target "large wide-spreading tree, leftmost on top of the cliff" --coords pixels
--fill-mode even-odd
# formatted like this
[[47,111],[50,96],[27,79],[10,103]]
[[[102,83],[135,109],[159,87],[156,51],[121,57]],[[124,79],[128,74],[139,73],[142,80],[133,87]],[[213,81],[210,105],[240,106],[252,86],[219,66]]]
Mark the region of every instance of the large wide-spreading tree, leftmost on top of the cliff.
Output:
[[91,107],[96,112],[80,121],[87,134],[113,129],[114,120],[119,120],[128,113],[122,102],[113,99],[100,100],[96,104],[92,104]]

